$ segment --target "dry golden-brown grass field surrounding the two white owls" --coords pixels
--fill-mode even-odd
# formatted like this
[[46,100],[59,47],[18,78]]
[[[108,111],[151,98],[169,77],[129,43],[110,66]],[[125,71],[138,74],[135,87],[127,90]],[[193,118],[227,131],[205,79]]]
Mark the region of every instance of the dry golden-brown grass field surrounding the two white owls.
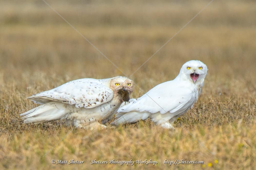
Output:
[[[47,2],[130,76],[210,1]],[[19,114],[37,106],[25,98],[74,79],[123,74],[43,1],[0,1],[0,169],[254,169],[255,6],[213,1],[131,77],[146,92],[174,79],[188,60],[208,66],[199,100],[175,130],[147,120],[75,129],[60,141],[72,127],[63,121],[23,124]],[[143,95],[140,88],[131,97]],[[91,164],[113,159],[158,163]]]

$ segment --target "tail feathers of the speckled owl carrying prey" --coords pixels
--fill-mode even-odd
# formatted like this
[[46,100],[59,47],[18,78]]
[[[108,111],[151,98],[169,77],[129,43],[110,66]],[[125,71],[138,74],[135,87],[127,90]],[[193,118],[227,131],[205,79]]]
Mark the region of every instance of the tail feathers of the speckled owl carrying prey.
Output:
[[20,114],[20,116],[24,116],[22,117],[24,123],[37,124],[65,119],[69,113],[69,110],[65,108],[65,104],[60,102],[50,102]]

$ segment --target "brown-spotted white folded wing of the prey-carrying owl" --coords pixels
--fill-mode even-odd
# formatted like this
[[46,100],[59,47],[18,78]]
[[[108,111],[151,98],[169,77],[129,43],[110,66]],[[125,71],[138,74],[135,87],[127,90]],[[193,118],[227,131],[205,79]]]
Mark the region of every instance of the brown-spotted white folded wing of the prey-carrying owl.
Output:
[[54,89],[35,94],[27,99],[38,104],[58,101],[75,104],[77,108],[93,108],[113,99],[113,90],[107,84],[97,79],[78,79]]

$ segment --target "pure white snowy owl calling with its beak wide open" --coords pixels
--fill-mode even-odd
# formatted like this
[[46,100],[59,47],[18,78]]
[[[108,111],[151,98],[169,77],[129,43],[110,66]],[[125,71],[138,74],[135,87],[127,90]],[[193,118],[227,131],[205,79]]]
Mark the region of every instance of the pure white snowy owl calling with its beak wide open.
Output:
[[158,84],[140,98],[122,104],[111,124],[134,123],[150,117],[163,128],[173,128],[174,121],[196,103],[206,74],[204,63],[186,62],[174,80]]

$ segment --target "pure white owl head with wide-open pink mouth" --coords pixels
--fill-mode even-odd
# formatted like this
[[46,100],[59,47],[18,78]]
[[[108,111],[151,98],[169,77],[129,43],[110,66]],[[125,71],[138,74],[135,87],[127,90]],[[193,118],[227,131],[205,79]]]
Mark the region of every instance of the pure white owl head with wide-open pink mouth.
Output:
[[190,60],[181,67],[179,77],[194,84],[202,84],[207,70],[207,66],[201,61]]

